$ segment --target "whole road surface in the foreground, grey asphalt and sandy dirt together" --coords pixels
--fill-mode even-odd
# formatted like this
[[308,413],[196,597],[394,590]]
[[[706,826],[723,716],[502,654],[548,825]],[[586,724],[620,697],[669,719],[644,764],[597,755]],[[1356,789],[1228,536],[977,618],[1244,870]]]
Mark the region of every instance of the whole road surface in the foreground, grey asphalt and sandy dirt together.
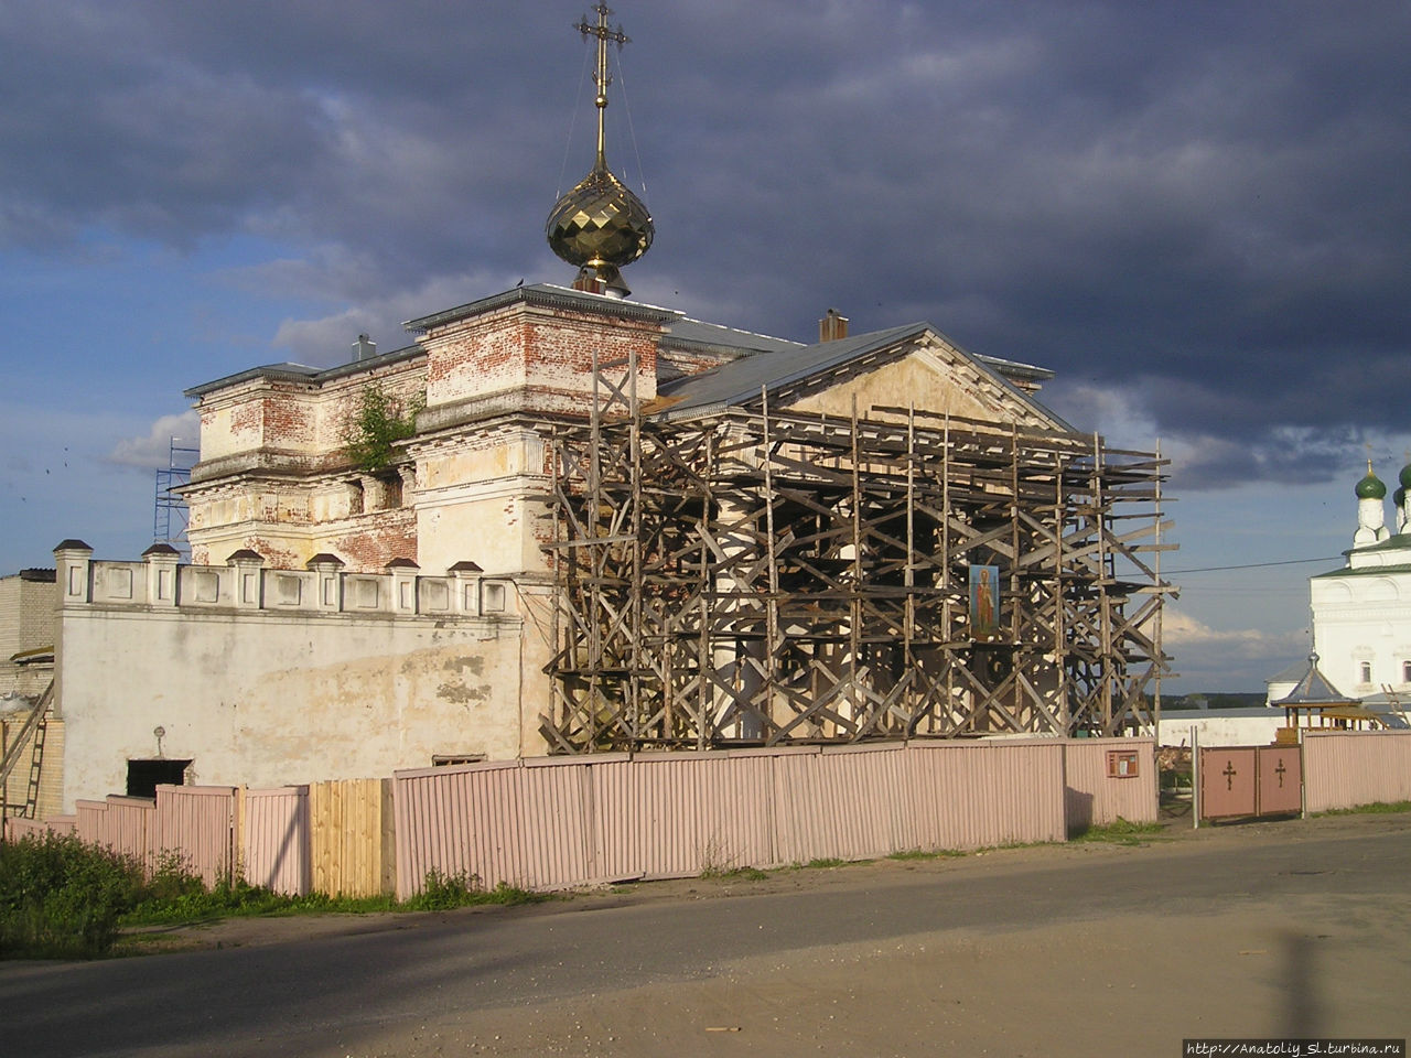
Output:
[[1408,879],[1411,817],[1360,815],[230,923],[203,932],[222,951],[0,968],[0,1040],[35,1058],[1077,1058],[1403,1038]]

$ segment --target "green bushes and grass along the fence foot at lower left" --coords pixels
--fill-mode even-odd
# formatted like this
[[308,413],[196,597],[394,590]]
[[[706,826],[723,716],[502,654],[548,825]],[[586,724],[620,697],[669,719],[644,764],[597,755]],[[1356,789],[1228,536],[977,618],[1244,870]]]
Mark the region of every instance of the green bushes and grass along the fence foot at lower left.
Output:
[[[391,896],[285,896],[240,877],[214,886],[179,856],[143,863],[72,835],[45,834],[0,844],[0,959],[93,959],[114,951],[123,930],[217,918],[373,911],[442,911],[476,904],[528,904],[552,899],[474,875],[432,870],[422,892]],[[133,951],[130,935],[124,951]],[[152,941],[152,947],[159,942]],[[135,949],[144,944],[137,942]]]

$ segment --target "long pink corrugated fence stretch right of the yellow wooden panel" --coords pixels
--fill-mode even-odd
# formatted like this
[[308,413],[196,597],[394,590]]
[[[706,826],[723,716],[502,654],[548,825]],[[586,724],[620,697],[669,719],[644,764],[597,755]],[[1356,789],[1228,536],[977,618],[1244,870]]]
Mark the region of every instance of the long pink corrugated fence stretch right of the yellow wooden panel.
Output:
[[395,777],[398,896],[1062,841],[1051,739],[497,762]]

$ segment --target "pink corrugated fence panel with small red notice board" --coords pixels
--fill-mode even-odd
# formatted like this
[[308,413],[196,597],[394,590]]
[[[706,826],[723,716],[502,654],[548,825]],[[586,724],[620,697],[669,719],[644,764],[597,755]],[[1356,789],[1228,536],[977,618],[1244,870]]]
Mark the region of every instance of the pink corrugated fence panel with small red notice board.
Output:
[[[1064,739],[1064,804],[1068,832],[1106,827],[1119,818],[1127,822],[1156,822],[1156,741],[1150,738]],[[1123,753],[1134,770],[1118,762],[1108,767],[1108,753]],[[1134,758],[1132,756],[1134,755]],[[1110,774],[1116,770],[1118,774]]]

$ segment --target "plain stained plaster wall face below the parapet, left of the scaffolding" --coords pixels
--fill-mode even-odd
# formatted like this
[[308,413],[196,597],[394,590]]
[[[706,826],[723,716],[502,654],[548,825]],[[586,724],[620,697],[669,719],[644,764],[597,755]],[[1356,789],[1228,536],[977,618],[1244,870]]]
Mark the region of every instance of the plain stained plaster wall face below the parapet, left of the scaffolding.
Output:
[[[75,608],[63,612],[63,807],[121,793],[127,760],[192,759],[190,782],[389,776],[436,753],[511,759],[518,618]],[[543,681],[542,674],[535,674]],[[540,695],[542,697],[542,695]]]

